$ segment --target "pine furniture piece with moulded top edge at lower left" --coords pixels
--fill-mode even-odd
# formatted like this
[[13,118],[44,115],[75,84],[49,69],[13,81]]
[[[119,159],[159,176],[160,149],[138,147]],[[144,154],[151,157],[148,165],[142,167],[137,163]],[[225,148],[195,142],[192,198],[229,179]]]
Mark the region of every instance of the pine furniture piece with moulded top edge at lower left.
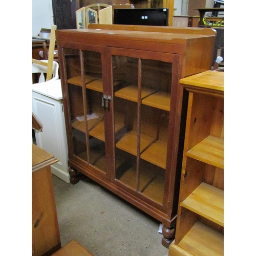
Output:
[[50,165],[58,160],[32,144],[32,255],[51,255],[60,236]]

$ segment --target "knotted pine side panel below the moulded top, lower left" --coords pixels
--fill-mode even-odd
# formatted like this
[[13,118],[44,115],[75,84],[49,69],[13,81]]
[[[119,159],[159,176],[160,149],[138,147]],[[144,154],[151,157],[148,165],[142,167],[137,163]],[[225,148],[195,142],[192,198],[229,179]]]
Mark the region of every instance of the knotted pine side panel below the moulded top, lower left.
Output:
[[46,166],[32,173],[32,254],[43,255],[56,245],[61,247],[51,170]]

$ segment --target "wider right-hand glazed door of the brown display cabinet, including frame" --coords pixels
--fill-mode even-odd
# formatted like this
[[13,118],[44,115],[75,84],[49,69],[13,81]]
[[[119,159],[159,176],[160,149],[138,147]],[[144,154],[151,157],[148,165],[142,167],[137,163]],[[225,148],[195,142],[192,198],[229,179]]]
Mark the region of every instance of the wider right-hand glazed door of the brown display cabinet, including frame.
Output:
[[109,52],[114,124],[112,182],[166,211],[174,153],[173,137],[168,133],[174,123],[172,99],[175,102],[179,57],[118,48]]

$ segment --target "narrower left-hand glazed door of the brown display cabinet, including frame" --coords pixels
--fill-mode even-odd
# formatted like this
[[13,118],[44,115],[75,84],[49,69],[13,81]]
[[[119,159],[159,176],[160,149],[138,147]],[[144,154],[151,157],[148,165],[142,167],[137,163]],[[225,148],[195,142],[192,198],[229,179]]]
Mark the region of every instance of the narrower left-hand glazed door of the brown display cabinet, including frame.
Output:
[[62,48],[68,99],[69,159],[106,175],[102,62],[104,48]]

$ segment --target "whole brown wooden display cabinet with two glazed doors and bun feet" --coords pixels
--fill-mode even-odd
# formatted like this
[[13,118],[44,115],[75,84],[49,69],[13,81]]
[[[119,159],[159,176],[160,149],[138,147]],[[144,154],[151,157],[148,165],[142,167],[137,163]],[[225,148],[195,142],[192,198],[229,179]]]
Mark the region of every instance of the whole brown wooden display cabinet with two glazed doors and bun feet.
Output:
[[215,31],[90,25],[56,39],[71,183],[86,175],[159,220],[167,247],[187,102],[179,79],[209,70]]

